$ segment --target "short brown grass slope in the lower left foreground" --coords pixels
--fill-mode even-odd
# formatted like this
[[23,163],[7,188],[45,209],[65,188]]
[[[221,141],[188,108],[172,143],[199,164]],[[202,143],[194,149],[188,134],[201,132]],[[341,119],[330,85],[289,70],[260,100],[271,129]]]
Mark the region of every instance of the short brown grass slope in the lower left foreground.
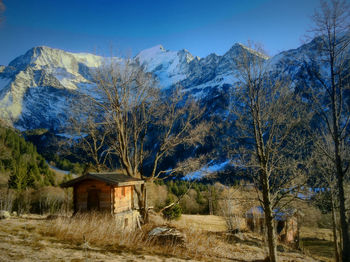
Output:
[[38,216],[0,220],[0,261],[189,261],[178,258],[131,254],[85,246],[72,246],[44,237],[49,220]]

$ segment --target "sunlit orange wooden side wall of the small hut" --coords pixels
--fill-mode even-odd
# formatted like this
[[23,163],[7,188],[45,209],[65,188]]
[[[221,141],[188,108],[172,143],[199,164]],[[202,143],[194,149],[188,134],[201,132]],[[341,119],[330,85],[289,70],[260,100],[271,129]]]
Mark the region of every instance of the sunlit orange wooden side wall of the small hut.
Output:
[[114,213],[121,213],[132,209],[133,187],[114,187]]

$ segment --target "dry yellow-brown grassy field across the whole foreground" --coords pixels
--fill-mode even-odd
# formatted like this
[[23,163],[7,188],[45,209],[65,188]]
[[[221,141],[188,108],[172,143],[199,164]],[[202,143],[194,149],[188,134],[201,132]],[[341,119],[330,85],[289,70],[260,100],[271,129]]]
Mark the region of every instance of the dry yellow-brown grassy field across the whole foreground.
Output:
[[[186,235],[185,245],[150,242],[147,232],[156,225],[178,228]],[[323,242],[329,241],[329,231],[320,230],[325,239],[319,239],[315,229],[303,230],[305,252],[284,246],[279,248],[280,261],[329,261]],[[0,220],[0,261],[262,261],[264,246],[258,234],[227,234],[225,220],[218,216],[183,215],[170,223],[159,218],[157,224],[131,233],[121,233],[101,216]]]

